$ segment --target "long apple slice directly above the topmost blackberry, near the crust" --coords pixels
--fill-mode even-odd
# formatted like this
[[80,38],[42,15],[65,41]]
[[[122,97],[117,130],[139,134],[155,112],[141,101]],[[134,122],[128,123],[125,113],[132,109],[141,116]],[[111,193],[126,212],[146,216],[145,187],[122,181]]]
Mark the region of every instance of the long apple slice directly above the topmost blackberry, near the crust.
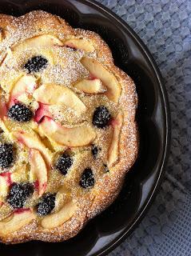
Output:
[[63,46],[61,40],[56,38],[52,34],[41,34],[34,38],[28,38],[24,42],[16,44],[12,47],[13,53],[16,51],[28,50],[34,47],[52,47],[52,46]]

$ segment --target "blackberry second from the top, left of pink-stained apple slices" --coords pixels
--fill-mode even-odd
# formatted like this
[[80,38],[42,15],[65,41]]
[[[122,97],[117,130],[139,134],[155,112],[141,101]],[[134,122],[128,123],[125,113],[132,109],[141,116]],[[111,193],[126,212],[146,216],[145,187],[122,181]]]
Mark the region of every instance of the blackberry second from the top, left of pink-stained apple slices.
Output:
[[33,112],[27,106],[21,103],[17,103],[10,107],[8,116],[14,121],[27,122],[32,118]]

